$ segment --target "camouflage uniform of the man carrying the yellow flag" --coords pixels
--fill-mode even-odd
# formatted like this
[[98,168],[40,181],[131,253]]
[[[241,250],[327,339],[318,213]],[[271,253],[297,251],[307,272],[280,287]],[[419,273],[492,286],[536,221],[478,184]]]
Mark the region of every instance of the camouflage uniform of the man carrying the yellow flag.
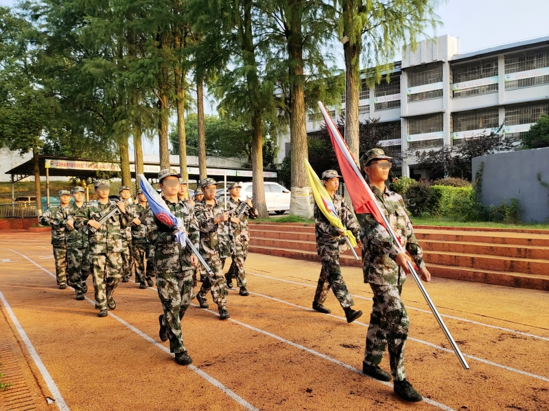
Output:
[[[347,207],[343,197],[334,195],[334,208],[344,227],[347,227],[353,236],[358,238],[360,226],[355,219],[353,212]],[[330,288],[338,299],[342,308],[354,306],[355,303],[347,290],[347,284],[341,275],[339,256],[349,249],[347,241],[340,236],[336,227],[331,225],[325,215],[314,205],[314,232],[316,234],[316,251],[320,256],[322,269],[314,294],[314,302],[323,304]]]

